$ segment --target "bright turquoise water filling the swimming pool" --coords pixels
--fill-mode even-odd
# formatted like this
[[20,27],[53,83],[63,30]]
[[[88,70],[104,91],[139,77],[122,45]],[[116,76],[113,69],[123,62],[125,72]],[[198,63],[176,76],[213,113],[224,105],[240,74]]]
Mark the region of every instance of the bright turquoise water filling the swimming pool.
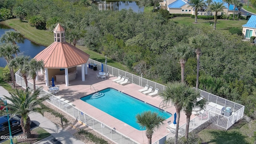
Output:
[[168,112],[160,112],[158,108],[113,88],[106,88],[99,91],[99,93],[103,93],[104,96],[93,98],[93,94],[90,94],[80,99],[137,130],[145,130],[145,128],[140,128],[136,123],[136,114],[150,110],[152,112],[157,112],[158,115],[164,116],[166,119],[172,116],[172,114]]

